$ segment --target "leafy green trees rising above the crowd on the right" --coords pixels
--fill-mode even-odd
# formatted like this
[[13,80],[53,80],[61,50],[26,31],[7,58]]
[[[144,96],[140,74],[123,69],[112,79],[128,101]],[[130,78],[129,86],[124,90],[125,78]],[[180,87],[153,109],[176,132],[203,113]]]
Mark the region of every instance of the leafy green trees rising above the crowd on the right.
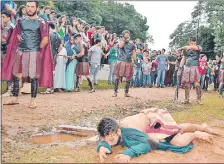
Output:
[[170,35],[170,46],[181,47],[189,37],[197,36],[198,44],[211,58],[224,52],[224,1],[200,1],[191,13],[192,19],[178,25]]

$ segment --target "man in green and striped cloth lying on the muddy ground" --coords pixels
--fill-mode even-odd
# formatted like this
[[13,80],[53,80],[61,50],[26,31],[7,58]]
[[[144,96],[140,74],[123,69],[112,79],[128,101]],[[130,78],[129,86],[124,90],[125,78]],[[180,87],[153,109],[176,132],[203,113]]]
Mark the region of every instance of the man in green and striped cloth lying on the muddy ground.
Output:
[[[157,115],[154,118],[151,117],[153,113]],[[173,124],[169,124],[169,121]],[[104,162],[107,154],[112,153],[112,146],[121,145],[127,147],[115,157],[121,163],[156,149],[184,154],[193,148],[192,141],[195,139],[212,143],[210,134],[216,134],[206,124],[188,123],[175,126],[175,121],[167,111],[156,108],[143,110],[125,118],[119,124],[114,119],[103,118],[97,130],[101,139],[97,145],[100,161]],[[161,134],[166,138],[161,139]]]

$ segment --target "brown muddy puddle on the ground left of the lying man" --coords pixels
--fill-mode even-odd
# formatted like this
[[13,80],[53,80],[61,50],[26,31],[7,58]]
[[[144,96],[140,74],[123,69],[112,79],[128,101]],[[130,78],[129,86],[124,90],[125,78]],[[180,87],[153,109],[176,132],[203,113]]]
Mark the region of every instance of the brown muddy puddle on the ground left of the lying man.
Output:
[[66,133],[56,133],[53,135],[33,136],[29,139],[33,144],[50,144],[55,142],[72,142],[84,139],[85,136],[72,135]]

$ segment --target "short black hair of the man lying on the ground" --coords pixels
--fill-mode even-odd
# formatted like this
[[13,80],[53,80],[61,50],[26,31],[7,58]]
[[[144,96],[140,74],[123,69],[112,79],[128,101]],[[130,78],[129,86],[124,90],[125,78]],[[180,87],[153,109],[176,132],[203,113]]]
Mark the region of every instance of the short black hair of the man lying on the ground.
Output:
[[117,132],[118,128],[119,125],[114,119],[103,118],[97,126],[97,131],[100,137],[105,137],[111,132]]

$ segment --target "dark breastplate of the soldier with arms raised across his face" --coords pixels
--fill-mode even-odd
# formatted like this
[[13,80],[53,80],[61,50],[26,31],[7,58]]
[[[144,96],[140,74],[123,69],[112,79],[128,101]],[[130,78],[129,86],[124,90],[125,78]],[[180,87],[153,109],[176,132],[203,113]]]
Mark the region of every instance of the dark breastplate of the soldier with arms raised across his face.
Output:
[[200,52],[198,50],[185,50],[185,65],[197,66],[199,60]]

